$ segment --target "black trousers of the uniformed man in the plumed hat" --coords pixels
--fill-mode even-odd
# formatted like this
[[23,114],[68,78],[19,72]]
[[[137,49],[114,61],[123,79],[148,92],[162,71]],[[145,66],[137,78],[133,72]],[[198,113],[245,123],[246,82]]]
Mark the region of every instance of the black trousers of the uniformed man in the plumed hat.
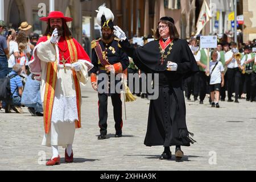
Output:
[[[110,97],[112,99],[114,110],[115,133],[122,134],[123,121],[121,94],[113,94]],[[98,115],[100,118],[100,121],[98,122],[100,133],[106,135],[108,127],[108,96],[106,94],[98,94]]]

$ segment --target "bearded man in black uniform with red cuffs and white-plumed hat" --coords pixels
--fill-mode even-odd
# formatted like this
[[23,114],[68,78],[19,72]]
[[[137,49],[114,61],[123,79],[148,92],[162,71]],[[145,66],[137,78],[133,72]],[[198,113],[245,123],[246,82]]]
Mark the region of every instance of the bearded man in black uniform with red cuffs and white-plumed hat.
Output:
[[[109,13],[109,11],[106,11],[105,5],[99,8],[98,14],[103,14],[100,17],[101,19],[98,19],[98,24],[101,24],[102,27],[102,38],[92,42],[92,64],[94,65],[94,68],[91,70],[91,82],[93,89],[98,91],[98,114],[100,118],[98,123],[98,126],[100,127],[100,136],[98,136],[98,139],[106,139],[109,96],[112,99],[114,110],[115,137],[122,137],[123,121],[121,94],[117,93],[116,90],[113,92],[110,88],[113,88],[113,84],[114,86],[120,84],[121,77],[117,75],[125,71],[129,66],[128,56],[122,51],[121,46],[119,45],[119,40],[114,38],[114,16],[113,14],[106,14]],[[106,17],[111,17],[111,19],[106,19]],[[98,75],[107,74],[108,79],[99,78],[97,80],[97,73]],[[111,74],[115,77],[114,81],[110,80]],[[107,89],[104,88],[104,86],[98,88],[99,84],[103,85],[102,82],[104,83],[104,86],[108,86]],[[108,90],[108,92],[102,93],[102,90],[100,89]]]

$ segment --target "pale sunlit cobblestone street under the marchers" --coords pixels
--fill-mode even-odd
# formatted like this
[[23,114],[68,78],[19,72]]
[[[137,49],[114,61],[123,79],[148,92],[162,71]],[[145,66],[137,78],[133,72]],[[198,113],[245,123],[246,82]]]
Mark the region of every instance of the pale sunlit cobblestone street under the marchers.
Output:
[[[159,160],[163,147],[144,146],[148,100],[138,98],[126,104],[123,112],[123,137],[114,138],[112,104],[109,99],[108,139],[98,140],[97,93],[90,84],[82,88],[82,129],[76,130],[73,143],[74,163],[46,167],[51,148],[41,146],[43,118],[0,112],[0,170],[255,170],[255,102],[220,102],[220,109],[187,102],[187,125],[197,143],[183,147],[184,158],[176,162]],[[45,157],[44,157],[45,156]],[[43,160],[41,160],[43,159]]]

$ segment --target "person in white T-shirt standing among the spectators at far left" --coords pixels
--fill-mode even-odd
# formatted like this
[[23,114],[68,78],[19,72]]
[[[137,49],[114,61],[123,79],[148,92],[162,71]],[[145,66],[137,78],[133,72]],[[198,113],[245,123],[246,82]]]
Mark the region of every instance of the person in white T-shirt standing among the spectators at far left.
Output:
[[13,69],[13,66],[16,64],[16,60],[19,58],[19,47],[18,43],[15,41],[16,39],[16,31],[14,29],[11,29],[11,36],[12,39],[10,41],[10,51],[9,51],[9,59],[8,59],[8,67],[11,71]]

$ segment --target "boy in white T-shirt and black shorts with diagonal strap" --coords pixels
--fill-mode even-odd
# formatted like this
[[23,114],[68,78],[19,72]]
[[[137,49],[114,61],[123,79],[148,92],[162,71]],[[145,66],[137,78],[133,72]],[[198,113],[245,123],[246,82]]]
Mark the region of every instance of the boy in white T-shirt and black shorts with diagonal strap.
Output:
[[[210,98],[212,107],[220,107],[220,90],[224,86],[224,67],[220,61],[217,61],[217,51],[212,51],[212,61],[210,61]],[[214,103],[214,94],[216,94],[216,103]]]

